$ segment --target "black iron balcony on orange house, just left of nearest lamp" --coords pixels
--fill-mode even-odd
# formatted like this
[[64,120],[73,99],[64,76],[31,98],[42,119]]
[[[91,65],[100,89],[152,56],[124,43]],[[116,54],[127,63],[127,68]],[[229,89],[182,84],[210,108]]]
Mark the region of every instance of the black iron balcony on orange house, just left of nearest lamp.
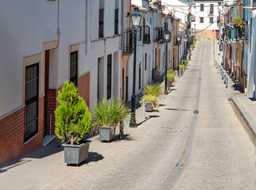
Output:
[[133,35],[134,31],[131,28],[124,30],[123,35],[123,54],[132,55],[133,53]]

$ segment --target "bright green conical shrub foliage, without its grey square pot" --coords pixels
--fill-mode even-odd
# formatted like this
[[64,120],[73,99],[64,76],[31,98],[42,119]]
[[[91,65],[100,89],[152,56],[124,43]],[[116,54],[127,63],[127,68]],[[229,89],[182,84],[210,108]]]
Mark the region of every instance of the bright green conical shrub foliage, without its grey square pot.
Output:
[[55,110],[55,135],[71,145],[79,144],[82,137],[90,132],[91,114],[78,89],[71,82],[65,82],[57,97],[59,107]]

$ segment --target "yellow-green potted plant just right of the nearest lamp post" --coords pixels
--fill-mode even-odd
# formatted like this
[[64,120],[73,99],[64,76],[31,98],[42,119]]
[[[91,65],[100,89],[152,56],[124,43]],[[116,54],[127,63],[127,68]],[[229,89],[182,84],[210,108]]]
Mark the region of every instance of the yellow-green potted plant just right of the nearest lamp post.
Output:
[[149,84],[145,86],[145,88],[143,89],[143,97],[140,101],[140,104],[142,104],[142,101],[144,99],[146,103],[146,112],[153,111],[153,108],[159,108],[159,103],[157,99],[161,93],[162,87],[160,84]]

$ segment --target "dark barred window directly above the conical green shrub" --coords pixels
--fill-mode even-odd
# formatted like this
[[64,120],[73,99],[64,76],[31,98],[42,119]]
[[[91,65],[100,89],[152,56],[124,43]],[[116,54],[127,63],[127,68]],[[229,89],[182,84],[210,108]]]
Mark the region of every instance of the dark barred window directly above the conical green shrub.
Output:
[[78,86],[78,51],[71,52],[70,82]]

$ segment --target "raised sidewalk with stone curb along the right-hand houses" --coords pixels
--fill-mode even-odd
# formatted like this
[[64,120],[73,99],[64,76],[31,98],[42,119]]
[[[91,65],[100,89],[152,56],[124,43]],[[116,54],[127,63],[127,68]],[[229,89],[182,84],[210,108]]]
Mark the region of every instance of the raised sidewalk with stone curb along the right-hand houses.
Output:
[[[222,67],[222,55],[223,51],[219,50],[219,46],[216,43],[216,62],[219,65],[218,71]],[[228,78],[227,88],[224,84],[224,91],[230,101],[231,107],[233,108],[235,115],[239,119],[239,122],[243,125],[250,141],[256,146],[256,100],[246,97],[246,94],[242,92],[237,82],[235,82],[230,75],[224,70],[224,74]],[[222,76],[220,75],[220,79]],[[222,80],[224,82],[224,80]]]

